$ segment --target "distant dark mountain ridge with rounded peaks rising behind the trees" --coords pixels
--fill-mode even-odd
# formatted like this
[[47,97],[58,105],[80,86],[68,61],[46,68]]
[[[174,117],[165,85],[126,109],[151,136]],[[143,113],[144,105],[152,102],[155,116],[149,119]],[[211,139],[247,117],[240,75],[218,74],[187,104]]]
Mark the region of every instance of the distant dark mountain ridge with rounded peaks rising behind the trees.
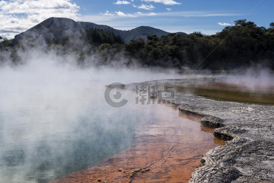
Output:
[[[112,30],[115,34],[121,36],[121,38],[126,43],[129,43],[130,40],[136,40],[139,38],[146,39],[146,36],[151,36],[154,34],[156,34],[157,37],[169,34],[169,32],[148,26],[141,26],[132,30],[117,30],[107,25],[98,25],[91,22],[76,22],[69,18],[52,17],[44,20],[40,24],[37,24],[36,26],[30,28],[29,30],[26,30],[25,32],[17,34],[14,39],[12,39],[12,43],[13,45],[15,45],[17,42],[24,41],[30,38],[34,40],[39,40],[39,38],[43,38],[46,41],[49,41],[52,40],[52,36],[54,36],[55,38],[61,38],[66,34],[77,33],[80,30],[86,30],[91,27]],[[52,36],[50,34],[52,34]],[[179,34],[186,33],[179,32]]]

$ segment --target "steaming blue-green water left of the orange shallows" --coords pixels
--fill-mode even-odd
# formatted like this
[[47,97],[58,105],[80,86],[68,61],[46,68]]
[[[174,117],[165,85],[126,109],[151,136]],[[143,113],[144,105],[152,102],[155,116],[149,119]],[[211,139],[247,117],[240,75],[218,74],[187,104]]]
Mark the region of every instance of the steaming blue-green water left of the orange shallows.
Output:
[[98,107],[25,182],[48,182],[93,167],[132,144],[132,127],[140,115],[134,109],[114,109],[99,99],[14,97],[1,98],[0,182],[27,178]]

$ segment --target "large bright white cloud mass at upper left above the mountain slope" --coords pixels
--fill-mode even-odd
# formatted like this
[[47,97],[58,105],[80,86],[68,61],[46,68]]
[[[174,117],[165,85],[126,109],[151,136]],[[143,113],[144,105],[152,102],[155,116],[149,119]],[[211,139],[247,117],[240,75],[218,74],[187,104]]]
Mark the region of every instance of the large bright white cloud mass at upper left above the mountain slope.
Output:
[[2,37],[13,38],[16,34],[37,25],[37,21],[42,22],[53,16],[78,20],[80,15],[78,14],[80,7],[69,0],[25,0],[20,1],[20,4],[16,1],[0,1],[0,35]]

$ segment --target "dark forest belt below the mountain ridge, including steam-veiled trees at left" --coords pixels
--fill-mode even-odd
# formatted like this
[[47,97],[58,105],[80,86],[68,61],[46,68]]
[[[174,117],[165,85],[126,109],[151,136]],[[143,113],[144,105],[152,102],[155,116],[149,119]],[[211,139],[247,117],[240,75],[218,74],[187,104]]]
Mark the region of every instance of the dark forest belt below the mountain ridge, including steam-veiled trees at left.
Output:
[[214,35],[170,33],[160,38],[147,36],[147,42],[144,39],[131,40],[128,44],[111,30],[89,28],[52,39],[48,41],[47,49],[60,47],[60,43],[83,62],[88,56],[96,54],[100,60],[96,64],[102,65],[112,60],[119,61],[123,56],[127,59],[127,65],[138,62],[142,66],[188,66],[194,69],[204,60],[197,69],[230,70],[260,64],[273,70],[274,23],[270,23],[269,28],[247,20],[236,20],[234,23]]

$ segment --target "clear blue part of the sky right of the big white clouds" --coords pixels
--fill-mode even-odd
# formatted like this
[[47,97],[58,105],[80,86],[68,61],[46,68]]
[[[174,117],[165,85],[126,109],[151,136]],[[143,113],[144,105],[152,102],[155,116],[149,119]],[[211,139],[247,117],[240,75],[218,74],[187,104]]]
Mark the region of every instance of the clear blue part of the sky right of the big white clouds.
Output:
[[[99,14],[105,13],[106,10],[111,14],[121,11],[125,14],[132,14],[136,12],[150,13],[153,12],[154,16],[142,16],[142,17],[112,17],[108,21],[108,17],[104,21],[112,27],[128,30],[141,25],[160,28],[169,32],[193,32],[201,31],[205,34],[214,34],[217,31],[222,30],[225,26],[219,25],[220,23],[233,24],[233,20],[245,18],[260,2],[261,0],[251,1],[187,1],[178,0],[175,2],[179,5],[165,5],[163,3],[145,2],[140,0],[134,0],[131,4],[116,5],[113,4],[117,1],[89,1],[78,0],[74,1],[80,6],[81,15]],[[138,9],[133,7],[144,5],[152,5],[153,9]],[[169,8],[171,10],[167,10]],[[248,18],[260,26],[269,26],[269,23],[274,21],[274,2],[264,1]],[[210,16],[212,15],[212,16]],[[219,15],[219,16],[218,16]],[[89,21],[85,17],[85,21]],[[91,20],[94,22],[94,20]],[[96,20],[95,20],[96,21]],[[96,21],[95,23],[100,23]]]

